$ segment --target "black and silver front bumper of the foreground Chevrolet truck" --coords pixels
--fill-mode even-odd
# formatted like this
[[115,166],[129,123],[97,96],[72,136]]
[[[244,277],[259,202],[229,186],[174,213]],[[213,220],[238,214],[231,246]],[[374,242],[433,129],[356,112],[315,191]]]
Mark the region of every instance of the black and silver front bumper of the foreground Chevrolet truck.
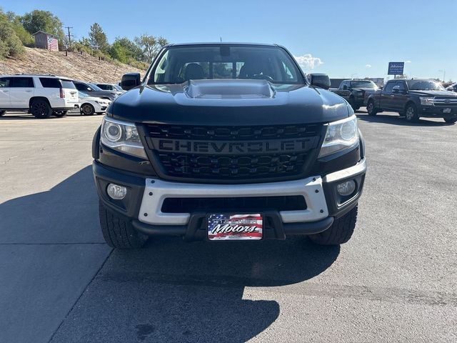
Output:
[[[288,234],[322,232],[331,226],[333,219],[355,207],[363,189],[366,161],[361,159],[355,166],[325,176],[316,175],[286,182],[234,185],[166,182],[120,172],[97,161],[94,161],[93,170],[97,191],[105,207],[130,219],[133,226],[144,234],[178,235],[189,240],[206,237],[206,212],[164,213],[164,199],[303,196],[306,209],[258,209],[266,219],[263,238],[284,239]],[[356,181],[356,191],[349,197],[341,197],[336,192],[336,184],[348,179]],[[113,200],[106,194],[106,187],[111,182],[127,187],[126,198]],[[211,212],[211,209],[208,209],[208,212]],[[251,213],[251,210],[249,212]]]

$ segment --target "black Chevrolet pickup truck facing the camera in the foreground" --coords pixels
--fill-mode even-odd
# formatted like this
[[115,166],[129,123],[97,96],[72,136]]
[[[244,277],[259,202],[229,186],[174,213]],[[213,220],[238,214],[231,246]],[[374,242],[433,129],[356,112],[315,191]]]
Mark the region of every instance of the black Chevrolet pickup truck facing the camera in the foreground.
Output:
[[293,56],[266,44],[165,46],[94,136],[100,222],[111,247],[147,237],[342,244],[366,160],[356,116]]

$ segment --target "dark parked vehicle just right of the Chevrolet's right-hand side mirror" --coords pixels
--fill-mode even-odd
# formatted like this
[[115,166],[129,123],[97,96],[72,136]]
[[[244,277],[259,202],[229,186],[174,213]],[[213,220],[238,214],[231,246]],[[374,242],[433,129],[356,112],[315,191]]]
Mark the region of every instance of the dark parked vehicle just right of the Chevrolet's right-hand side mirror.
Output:
[[337,89],[330,89],[346,99],[354,111],[366,106],[368,96],[378,91],[378,86],[370,80],[344,80]]

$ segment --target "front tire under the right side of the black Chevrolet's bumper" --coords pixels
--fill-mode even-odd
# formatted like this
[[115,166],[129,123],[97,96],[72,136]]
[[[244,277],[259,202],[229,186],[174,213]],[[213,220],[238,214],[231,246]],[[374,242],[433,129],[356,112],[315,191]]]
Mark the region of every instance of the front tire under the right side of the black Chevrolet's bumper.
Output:
[[309,238],[315,244],[339,245],[348,242],[351,238],[357,222],[358,205],[351,209],[343,217],[335,219],[331,227],[318,234],[310,234]]

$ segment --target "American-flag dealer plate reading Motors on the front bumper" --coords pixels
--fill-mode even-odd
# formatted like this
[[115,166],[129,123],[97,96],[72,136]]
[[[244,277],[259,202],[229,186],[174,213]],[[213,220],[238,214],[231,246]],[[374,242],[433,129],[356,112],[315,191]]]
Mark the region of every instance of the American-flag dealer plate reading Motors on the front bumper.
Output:
[[208,239],[211,241],[237,241],[262,239],[261,214],[209,214]]

